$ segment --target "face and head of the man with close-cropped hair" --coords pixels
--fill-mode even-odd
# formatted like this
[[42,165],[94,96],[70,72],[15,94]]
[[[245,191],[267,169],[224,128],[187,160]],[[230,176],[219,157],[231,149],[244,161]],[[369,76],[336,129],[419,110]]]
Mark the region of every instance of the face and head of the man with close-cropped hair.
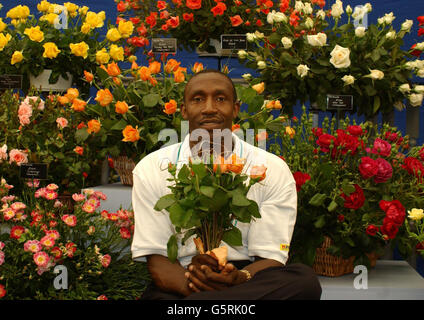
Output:
[[199,74],[186,87],[181,114],[189,129],[204,129],[212,137],[213,129],[230,129],[240,110],[234,102],[230,81],[219,73]]

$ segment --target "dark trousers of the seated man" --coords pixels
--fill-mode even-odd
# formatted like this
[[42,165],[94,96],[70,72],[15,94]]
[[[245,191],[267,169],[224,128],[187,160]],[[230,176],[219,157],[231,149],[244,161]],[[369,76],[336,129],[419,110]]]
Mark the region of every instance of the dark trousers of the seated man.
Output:
[[163,292],[152,283],[141,300],[319,300],[321,291],[312,268],[295,263],[261,270],[250,281],[224,290],[196,292],[187,297]]

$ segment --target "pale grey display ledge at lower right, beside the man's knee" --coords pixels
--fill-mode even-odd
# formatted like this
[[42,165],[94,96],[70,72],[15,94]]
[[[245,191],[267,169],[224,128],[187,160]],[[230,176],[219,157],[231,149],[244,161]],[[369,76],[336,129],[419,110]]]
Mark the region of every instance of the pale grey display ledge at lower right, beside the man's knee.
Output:
[[[351,273],[341,277],[319,277],[321,300],[423,300],[424,279],[406,261],[377,260],[368,270],[368,288],[355,289]],[[359,280],[359,278],[358,278]],[[357,283],[362,284],[362,281]]]

